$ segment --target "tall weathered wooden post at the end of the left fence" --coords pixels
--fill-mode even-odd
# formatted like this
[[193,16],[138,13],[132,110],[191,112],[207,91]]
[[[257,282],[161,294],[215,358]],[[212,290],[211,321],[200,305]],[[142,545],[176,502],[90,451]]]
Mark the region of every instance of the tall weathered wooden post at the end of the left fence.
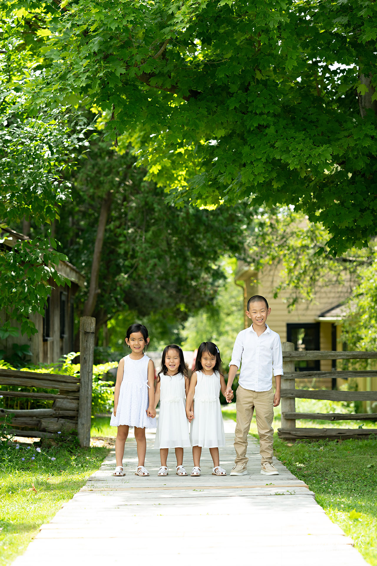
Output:
[[90,418],[92,416],[92,378],[94,355],[94,332],[96,319],[92,316],[80,318],[80,398],[77,432],[80,446],[90,444]]

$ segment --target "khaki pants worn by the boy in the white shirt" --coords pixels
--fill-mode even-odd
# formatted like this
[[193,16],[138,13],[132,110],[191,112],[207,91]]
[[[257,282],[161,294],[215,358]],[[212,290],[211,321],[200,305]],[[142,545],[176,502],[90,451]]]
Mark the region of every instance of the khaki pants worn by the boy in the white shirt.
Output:
[[250,389],[244,389],[241,385],[237,389],[235,463],[246,465],[249,461],[249,458],[246,458],[246,450],[248,448],[248,433],[254,408],[262,464],[263,462],[271,462],[272,464],[274,429],[271,424],[274,420],[274,390],[271,387],[270,391],[250,391]]

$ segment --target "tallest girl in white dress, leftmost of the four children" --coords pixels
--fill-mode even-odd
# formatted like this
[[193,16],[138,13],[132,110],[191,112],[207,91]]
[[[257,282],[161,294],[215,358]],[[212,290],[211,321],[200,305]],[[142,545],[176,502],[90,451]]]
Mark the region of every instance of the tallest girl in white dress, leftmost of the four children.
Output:
[[110,426],[117,426],[115,440],[116,468],[112,475],[125,475],[123,470],[124,444],[129,427],[135,427],[138,465],[136,475],[149,475],[144,468],[146,439],[145,428],[156,427],[154,408],[154,364],[144,354],[149,344],[144,324],[131,324],[125,335],[131,353],[119,362],[114,390],[114,411]]

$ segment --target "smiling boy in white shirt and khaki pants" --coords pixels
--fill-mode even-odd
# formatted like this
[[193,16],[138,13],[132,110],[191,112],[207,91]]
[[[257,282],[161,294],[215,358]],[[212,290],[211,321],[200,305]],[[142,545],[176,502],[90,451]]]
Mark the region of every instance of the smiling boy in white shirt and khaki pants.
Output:
[[[261,474],[278,475],[272,465],[272,442],[274,429],[274,407],[280,403],[280,383],[283,375],[283,354],[280,337],[266,324],[271,308],[265,297],[254,295],[248,301],[246,315],[252,325],[241,330],[233,346],[232,359],[229,363],[227,395],[231,395],[232,383],[242,360],[239,387],[237,389],[237,417],[235,438],[235,466],[231,475],[248,473],[246,449],[248,433],[255,408],[259,434]],[[272,389],[272,372],[275,375],[276,391]]]

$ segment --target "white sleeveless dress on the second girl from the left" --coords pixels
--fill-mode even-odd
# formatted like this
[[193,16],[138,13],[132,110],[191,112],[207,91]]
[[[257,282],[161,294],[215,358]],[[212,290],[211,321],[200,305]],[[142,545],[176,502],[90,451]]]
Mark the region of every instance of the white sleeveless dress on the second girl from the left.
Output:
[[160,413],[155,448],[184,448],[190,446],[185,405],[183,374],[160,374]]

